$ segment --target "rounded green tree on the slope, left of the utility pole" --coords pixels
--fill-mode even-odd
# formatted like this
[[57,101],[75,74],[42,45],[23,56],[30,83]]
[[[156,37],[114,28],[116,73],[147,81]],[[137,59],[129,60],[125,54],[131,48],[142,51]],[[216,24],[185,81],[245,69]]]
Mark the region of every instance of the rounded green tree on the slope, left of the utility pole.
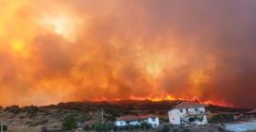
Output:
[[64,118],[63,129],[64,130],[72,130],[78,127],[77,120],[71,115],[68,115]]

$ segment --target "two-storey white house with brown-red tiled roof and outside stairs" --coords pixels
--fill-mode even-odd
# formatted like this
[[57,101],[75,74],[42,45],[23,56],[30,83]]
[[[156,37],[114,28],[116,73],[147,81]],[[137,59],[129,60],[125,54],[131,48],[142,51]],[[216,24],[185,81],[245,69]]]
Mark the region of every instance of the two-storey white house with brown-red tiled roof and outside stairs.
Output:
[[170,123],[185,125],[208,124],[206,115],[210,112],[205,109],[208,106],[197,102],[180,102],[168,112]]

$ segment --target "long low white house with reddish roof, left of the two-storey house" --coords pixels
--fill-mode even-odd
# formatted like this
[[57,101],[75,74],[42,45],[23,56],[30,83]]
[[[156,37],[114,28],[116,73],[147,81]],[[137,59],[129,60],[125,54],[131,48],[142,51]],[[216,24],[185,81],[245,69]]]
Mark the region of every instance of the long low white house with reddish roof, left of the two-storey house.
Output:
[[134,116],[134,117],[120,117],[116,121],[116,125],[122,126],[122,125],[136,125],[141,124],[143,122],[146,122],[148,124],[152,124],[153,127],[156,127],[159,125],[159,118],[155,115],[145,115],[145,116]]

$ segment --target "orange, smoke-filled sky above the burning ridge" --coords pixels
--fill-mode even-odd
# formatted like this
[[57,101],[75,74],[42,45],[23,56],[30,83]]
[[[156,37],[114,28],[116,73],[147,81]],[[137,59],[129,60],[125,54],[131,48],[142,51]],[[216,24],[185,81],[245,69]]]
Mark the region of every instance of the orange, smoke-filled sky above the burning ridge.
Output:
[[254,0],[0,0],[0,105],[256,107]]

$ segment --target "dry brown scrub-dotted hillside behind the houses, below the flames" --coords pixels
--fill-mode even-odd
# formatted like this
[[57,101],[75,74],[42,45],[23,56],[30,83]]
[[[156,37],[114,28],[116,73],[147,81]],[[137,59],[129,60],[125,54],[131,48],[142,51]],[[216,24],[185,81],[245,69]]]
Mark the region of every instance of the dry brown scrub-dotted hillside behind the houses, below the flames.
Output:
[[[120,116],[155,114],[160,122],[168,122],[167,112],[176,101],[117,101],[117,102],[70,102],[46,107],[6,107],[0,119],[11,131],[40,131],[41,127],[60,129],[64,116],[74,115],[81,126],[101,121],[101,107],[104,108],[105,122],[113,123]],[[246,108],[210,106],[211,112],[246,112]]]

